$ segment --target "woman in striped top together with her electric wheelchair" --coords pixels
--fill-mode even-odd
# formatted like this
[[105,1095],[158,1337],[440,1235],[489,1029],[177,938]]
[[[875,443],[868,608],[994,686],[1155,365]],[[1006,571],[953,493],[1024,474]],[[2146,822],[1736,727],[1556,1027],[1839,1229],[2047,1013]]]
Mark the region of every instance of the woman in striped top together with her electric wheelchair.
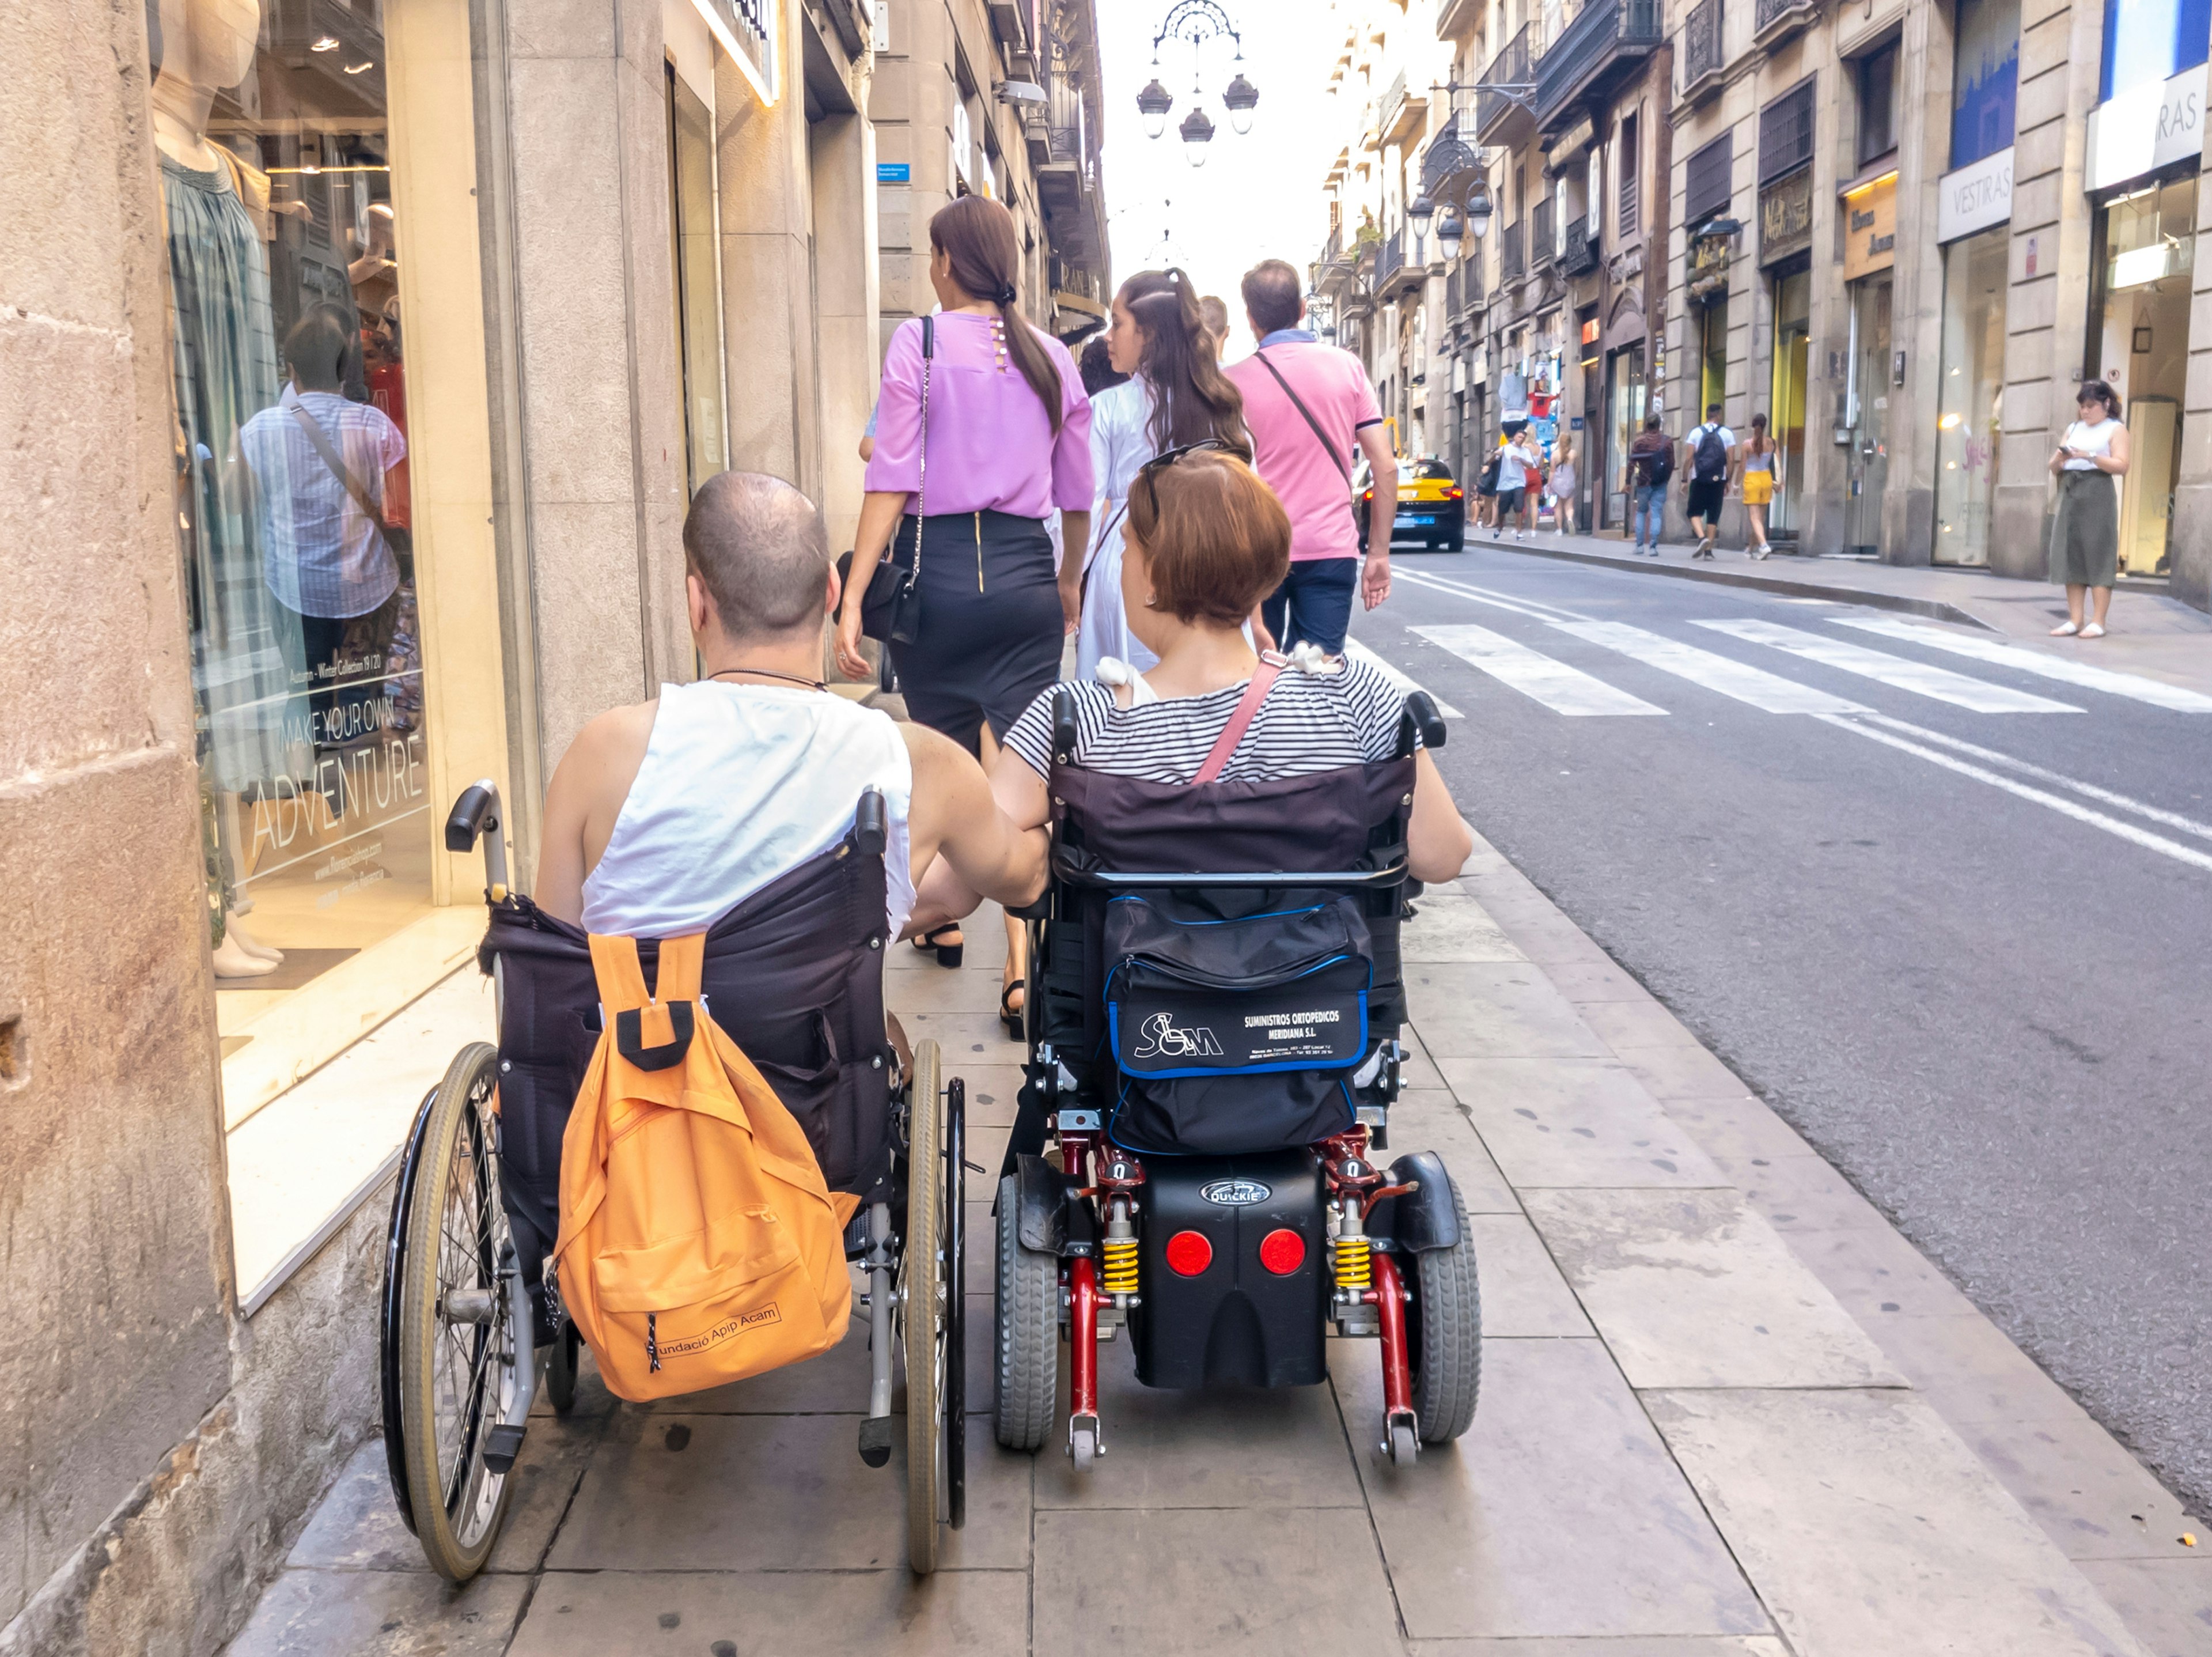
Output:
[[[1325,1378],[1334,1325],[1380,1338],[1383,1449],[1409,1462],[1473,1418],[1473,1243],[1438,1157],[1371,1153],[1398,1093],[1398,923],[1473,836],[1427,697],[1356,657],[1254,655],[1243,619],[1290,522],[1208,449],[1130,487],[1121,593],[1159,666],[1055,686],[991,777],[1055,836],[998,1197],[998,1438],[1044,1442],[1062,1334],[1088,1467],[1102,1327],[1128,1327],[1144,1385],[1279,1387]],[[927,896],[951,887],[933,872]]]

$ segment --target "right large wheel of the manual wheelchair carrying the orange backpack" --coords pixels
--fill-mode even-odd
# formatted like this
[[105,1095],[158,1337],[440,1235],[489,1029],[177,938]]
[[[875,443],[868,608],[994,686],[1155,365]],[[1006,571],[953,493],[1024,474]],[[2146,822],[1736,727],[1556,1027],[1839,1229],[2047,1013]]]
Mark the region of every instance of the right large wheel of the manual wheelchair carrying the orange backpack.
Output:
[[938,1569],[938,1496],[942,1484],[942,1268],[945,1155],[938,1108],[945,1060],[936,1042],[914,1049],[907,1082],[907,1237],[898,1257],[900,1356],[907,1365],[907,1566],[918,1577]]

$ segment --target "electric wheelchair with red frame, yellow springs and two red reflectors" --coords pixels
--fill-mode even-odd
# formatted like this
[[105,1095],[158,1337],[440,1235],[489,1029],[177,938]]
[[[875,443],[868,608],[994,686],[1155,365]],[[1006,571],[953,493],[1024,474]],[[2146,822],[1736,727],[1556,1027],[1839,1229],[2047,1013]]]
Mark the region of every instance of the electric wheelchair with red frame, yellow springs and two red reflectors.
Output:
[[1265,783],[1159,785],[1073,763],[1053,704],[1051,885],[1031,942],[1024,1086],[998,1181],[995,1431],[1106,1453],[1099,1341],[1137,1380],[1301,1387],[1327,1336],[1380,1345],[1380,1451],[1469,1429],[1475,1250],[1433,1153],[1387,1168],[1405,1049],[1398,925],[1416,734],[1398,754]]

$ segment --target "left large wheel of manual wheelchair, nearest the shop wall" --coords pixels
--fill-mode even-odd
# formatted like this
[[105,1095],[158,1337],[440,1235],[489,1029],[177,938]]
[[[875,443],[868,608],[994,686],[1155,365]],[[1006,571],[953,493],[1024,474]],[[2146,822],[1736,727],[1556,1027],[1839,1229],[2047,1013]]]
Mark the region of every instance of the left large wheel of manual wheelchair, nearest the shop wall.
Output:
[[498,1069],[498,1049],[471,1042],[431,1095],[400,1175],[407,1212],[394,1215],[400,1250],[387,1268],[387,1416],[400,1429],[403,1513],[449,1582],[473,1577],[500,1535],[509,1480],[484,1449],[522,1385],[500,1276],[513,1241],[500,1201]]

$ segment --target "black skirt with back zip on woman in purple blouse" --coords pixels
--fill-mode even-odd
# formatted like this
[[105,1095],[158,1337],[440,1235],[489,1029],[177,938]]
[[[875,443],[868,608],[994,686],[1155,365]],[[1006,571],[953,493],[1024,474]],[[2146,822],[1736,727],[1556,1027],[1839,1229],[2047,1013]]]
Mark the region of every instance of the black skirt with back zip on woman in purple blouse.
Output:
[[[914,557],[916,520],[898,524],[891,555]],[[1004,737],[1060,677],[1066,622],[1053,542],[1035,518],[1002,511],[922,520],[922,628],[891,642],[907,715],[982,757],[982,723]]]

